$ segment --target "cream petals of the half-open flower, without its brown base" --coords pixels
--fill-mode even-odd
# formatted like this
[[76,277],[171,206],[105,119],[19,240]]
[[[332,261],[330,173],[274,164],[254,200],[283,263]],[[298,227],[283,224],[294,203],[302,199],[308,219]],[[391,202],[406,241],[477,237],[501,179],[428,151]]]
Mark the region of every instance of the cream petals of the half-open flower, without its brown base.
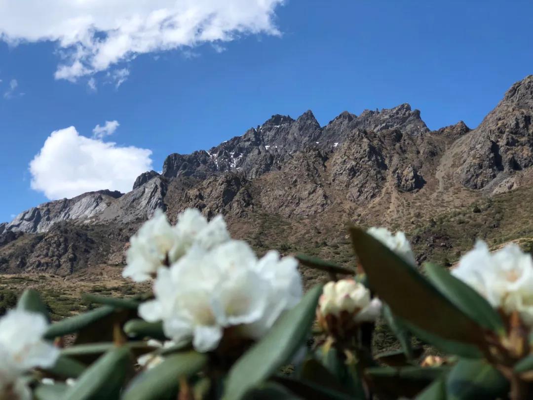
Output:
[[324,317],[340,317],[345,312],[353,315],[356,322],[372,322],[381,311],[381,301],[371,299],[370,291],[365,285],[353,279],[341,279],[324,285],[318,307]]

